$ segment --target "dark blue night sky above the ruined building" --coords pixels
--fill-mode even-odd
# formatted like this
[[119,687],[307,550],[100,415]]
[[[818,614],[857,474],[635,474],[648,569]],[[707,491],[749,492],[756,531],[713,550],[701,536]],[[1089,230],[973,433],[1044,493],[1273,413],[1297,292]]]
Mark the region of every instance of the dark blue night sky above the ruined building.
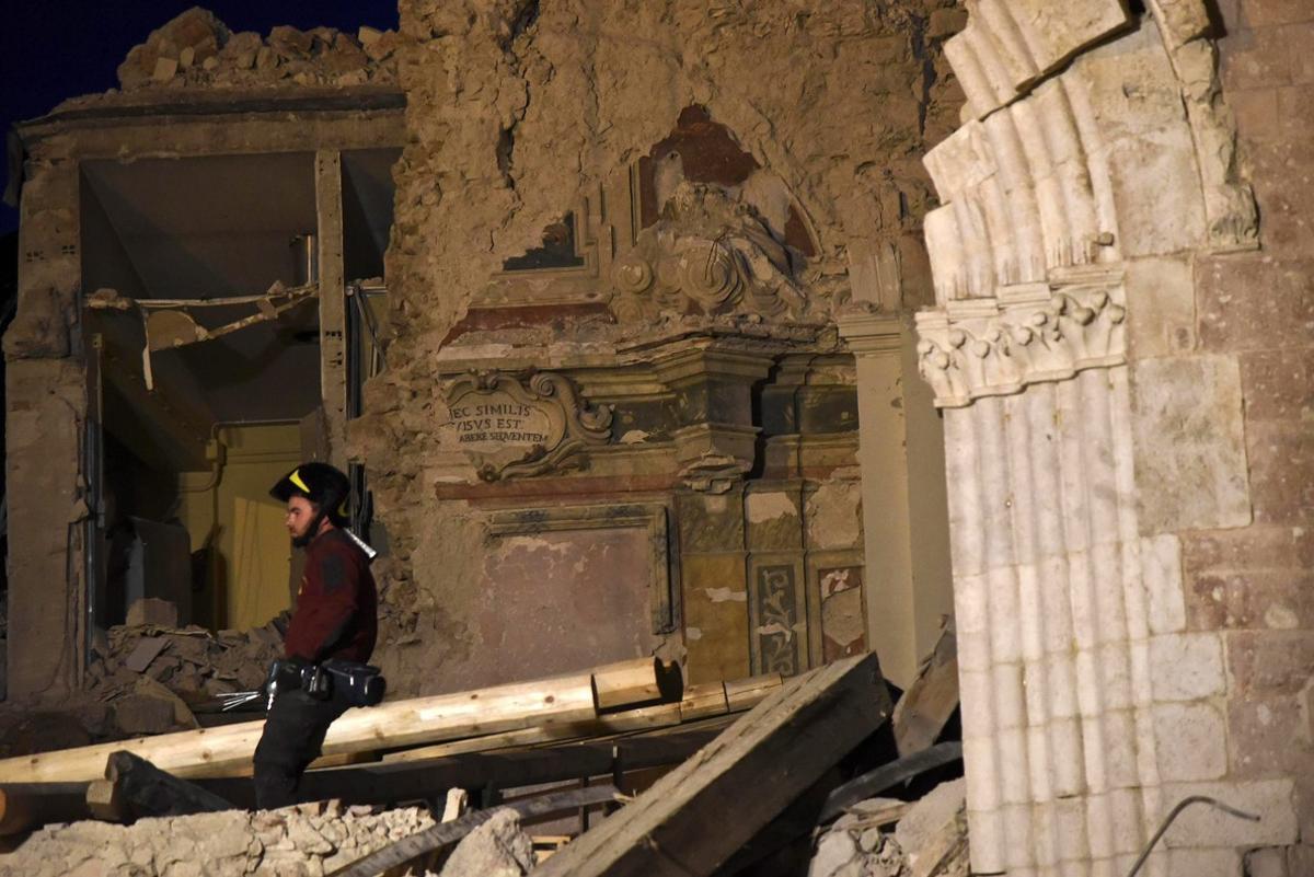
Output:
[[[114,70],[127,50],[192,5],[184,0],[9,4],[0,26],[0,122],[8,130],[16,121],[43,116],[67,97],[117,88]],[[360,25],[397,26],[396,0],[213,0],[204,5],[233,32],[268,34],[275,25],[327,25],[351,33]],[[7,163],[0,164],[8,177]],[[17,211],[0,205],[0,234],[17,225]]]

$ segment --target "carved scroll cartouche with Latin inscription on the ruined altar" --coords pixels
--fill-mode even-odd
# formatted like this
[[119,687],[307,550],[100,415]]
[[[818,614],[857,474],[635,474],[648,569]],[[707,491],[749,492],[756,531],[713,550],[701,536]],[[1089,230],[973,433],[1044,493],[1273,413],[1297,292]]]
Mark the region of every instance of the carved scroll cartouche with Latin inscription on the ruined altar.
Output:
[[581,400],[561,374],[472,372],[447,387],[444,444],[466,452],[480,479],[528,478],[581,467],[611,436],[612,410]]

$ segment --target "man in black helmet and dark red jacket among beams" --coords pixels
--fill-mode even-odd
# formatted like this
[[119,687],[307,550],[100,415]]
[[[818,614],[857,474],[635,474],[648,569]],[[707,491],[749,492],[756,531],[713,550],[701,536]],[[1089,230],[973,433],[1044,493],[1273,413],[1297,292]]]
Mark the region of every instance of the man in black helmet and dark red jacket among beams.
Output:
[[[364,664],[374,649],[377,595],[369,557],[347,532],[351,483],[327,463],[297,466],[269,494],[288,504],[292,544],[306,551],[305,575],[284,638],[300,671],[326,660]],[[255,798],[261,810],[294,803],[306,765],[319,756],[328,726],[352,704],[344,685],[327,697],[280,687],[255,750]]]

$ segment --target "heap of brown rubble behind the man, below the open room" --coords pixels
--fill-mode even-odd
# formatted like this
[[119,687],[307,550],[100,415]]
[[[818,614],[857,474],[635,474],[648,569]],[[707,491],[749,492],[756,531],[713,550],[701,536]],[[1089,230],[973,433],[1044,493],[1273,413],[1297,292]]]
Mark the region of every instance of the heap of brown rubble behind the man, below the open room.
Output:
[[[196,713],[214,712],[217,698],[254,691],[283,654],[286,613],[263,628],[213,634],[194,625],[110,628],[87,668],[87,692],[110,706],[110,737],[198,727]],[[97,729],[92,729],[93,731]]]

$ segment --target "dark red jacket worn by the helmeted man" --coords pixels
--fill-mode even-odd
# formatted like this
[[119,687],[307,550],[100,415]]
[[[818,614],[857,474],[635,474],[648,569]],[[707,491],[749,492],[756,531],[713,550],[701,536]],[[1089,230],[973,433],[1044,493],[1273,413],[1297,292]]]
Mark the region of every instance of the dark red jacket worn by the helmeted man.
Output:
[[369,558],[350,536],[331,529],[306,546],[306,571],[283,649],[311,662],[369,660],[378,633],[378,596]]

